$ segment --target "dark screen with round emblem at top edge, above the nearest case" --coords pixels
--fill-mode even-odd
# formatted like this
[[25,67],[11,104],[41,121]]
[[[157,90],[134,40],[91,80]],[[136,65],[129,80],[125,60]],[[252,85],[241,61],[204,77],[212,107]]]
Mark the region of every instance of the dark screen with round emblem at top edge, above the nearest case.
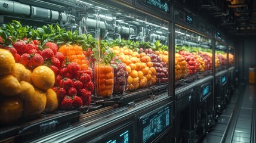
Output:
[[169,3],[164,0],[144,0],[144,3],[169,14]]

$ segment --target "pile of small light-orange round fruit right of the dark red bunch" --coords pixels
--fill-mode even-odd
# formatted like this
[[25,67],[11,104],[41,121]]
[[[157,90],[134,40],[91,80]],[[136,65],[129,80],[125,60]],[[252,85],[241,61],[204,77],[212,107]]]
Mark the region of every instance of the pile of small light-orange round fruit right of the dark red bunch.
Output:
[[153,67],[150,57],[144,52],[139,54],[126,46],[122,48],[113,46],[110,50],[115,52],[127,67],[129,90],[144,88],[156,83],[156,69]]

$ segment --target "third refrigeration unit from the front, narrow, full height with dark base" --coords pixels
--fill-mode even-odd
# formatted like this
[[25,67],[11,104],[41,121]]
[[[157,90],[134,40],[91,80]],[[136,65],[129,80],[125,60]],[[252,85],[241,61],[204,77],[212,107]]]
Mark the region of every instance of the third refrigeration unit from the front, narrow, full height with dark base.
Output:
[[215,31],[215,109],[220,114],[229,102],[227,70],[227,45],[223,35]]

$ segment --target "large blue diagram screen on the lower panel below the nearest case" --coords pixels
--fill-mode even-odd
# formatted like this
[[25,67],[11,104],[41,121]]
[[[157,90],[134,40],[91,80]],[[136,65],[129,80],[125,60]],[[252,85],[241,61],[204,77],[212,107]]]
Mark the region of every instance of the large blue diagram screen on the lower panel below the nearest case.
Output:
[[139,123],[142,142],[150,142],[164,132],[171,126],[170,119],[170,107],[161,108],[150,116],[141,117]]

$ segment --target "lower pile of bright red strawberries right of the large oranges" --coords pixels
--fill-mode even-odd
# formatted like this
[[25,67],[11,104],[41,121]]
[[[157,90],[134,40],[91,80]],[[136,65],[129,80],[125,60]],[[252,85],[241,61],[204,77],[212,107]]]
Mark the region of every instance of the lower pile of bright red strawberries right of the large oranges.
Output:
[[65,60],[55,72],[57,76],[53,89],[57,93],[61,108],[90,105],[91,92],[94,91],[92,70],[79,70],[77,63]]

